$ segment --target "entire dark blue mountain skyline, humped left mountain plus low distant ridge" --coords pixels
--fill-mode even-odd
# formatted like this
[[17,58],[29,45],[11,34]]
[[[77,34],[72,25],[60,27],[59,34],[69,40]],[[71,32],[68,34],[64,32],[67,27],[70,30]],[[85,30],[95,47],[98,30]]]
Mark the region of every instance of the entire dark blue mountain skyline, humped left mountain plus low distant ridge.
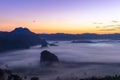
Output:
[[14,49],[26,49],[34,45],[46,45],[46,40],[90,40],[112,39],[119,40],[120,34],[35,34],[28,28],[15,28],[11,32],[0,31],[0,52]]

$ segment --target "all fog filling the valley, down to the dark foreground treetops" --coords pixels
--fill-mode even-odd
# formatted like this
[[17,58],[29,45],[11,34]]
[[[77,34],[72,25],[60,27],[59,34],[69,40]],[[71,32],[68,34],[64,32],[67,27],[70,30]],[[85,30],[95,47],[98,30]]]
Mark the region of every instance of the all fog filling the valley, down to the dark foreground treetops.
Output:
[[[49,41],[49,43],[54,43],[54,41]],[[55,44],[58,46],[40,48],[40,45],[37,45],[32,46],[30,49],[0,53],[0,66],[21,72],[32,69],[32,74],[34,74],[35,71],[35,74],[41,74],[43,78],[45,78],[45,75],[47,75],[47,77],[49,77],[49,74],[52,75],[52,71],[53,75],[57,76],[56,73],[61,75],[64,70],[68,74],[78,71],[77,74],[80,72],[82,77],[84,77],[82,73],[91,73],[91,71],[92,75],[96,75],[96,73],[99,75],[100,73],[102,75],[106,75],[107,73],[119,74],[120,72],[119,41],[100,41],[97,43],[58,41],[58,43]],[[48,50],[57,55],[60,63],[56,63],[53,67],[41,67],[40,53],[43,50]],[[27,74],[27,72],[25,74]]]

